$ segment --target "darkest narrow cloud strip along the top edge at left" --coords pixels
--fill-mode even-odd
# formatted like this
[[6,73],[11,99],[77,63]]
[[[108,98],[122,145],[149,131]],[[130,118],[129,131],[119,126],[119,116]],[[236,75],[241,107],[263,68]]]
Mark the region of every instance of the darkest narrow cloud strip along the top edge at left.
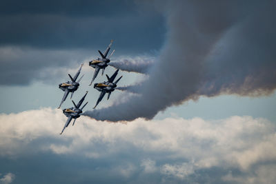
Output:
[[74,1],[49,0],[3,0],[0,2],[0,14],[66,14],[70,16],[124,14],[135,11],[133,1]]

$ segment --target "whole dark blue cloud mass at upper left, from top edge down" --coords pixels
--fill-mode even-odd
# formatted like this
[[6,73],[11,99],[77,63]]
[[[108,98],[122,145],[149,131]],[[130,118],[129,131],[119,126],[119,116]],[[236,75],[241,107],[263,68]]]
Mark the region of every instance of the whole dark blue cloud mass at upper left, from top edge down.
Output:
[[[115,39],[128,52],[161,48],[164,21],[133,1],[3,1],[0,45],[100,49]],[[14,8],[15,7],[15,8]]]

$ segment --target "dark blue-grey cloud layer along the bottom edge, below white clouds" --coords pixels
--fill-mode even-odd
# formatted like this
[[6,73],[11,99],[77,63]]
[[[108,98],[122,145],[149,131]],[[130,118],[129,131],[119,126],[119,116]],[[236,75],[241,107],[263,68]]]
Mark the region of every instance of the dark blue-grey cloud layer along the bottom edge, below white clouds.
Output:
[[[243,183],[235,181],[237,177],[246,177],[236,168],[210,167],[197,170],[185,178],[175,175],[164,176],[159,170],[145,172],[140,166],[139,159],[144,156],[157,156],[155,154],[142,154],[140,150],[132,148],[127,154],[113,154],[112,157],[102,159],[88,159],[77,155],[55,155],[51,153],[30,154],[20,156],[17,159],[0,157],[2,169],[0,172],[10,170],[15,173],[12,183]],[[123,152],[121,152],[123,153]],[[122,158],[126,156],[126,158]],[[135,157],[138,156],[138,157]],[[155,167],[161,167],[162,163],[177,163],[179,160],[164,159],[155,162]],[[128,165],[131,163],[132,166]],[[132,168],[135,167],[135,168]],[[259,166],[260,167],[260,166]],[[267,167],[267,166],[266,166]],[[5,168],[5,169],[3,169]],[[124,176],[119,170],[130,170],[130,176]],[[185,172],[179,171],[179,172]],[[254,170],[252,170],[254,172]],[[232,181],[224,181],[223,176],[231,173]],[[180,173],[179,173],[180,174]],[[255,176],[250,174],[251,177]],[[257,175],[257,174],[256,174]],[[255,176],[257,177],[257,176]],[[264,176],[262,176],[264,177]],[[269,181],[269,178],[262,178]],[[244,179],[246,182],[246,179]],[[257,182],[256,182],[257,183]],[[272,183],[271,183],[272,184]]]

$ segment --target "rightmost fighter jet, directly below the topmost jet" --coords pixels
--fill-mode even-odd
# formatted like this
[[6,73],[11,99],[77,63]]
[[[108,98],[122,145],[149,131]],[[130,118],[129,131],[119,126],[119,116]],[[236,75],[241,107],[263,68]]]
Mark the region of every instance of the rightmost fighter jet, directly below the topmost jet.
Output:
[[113,83],[114,79],[116,78],[117,74],[118,74],[118,70],[116,70],[116,72],[114,74],[112,74],[111,77],[109,77],[107,74],[106,74],[106,77],[108,78],[108,81],[104,81],[103,83],[95,83],[94,84],[94,88],[96,90],[98,90],[99,92],[101,92],[101,94],[99,95],[99,99],[97,100],[97,103],[95,105],[95,107],[93,109],[96,108],[96,106],[99,104],[99,102],[101,101],[101,99],[103,99],[103,96],[108,93],[108,99],[110,97],[110,94],[112,91],[115,90],[115,88],[117,87],[117,83],[119,82],[119,80],[121,79],[121,77],[123,76],[120,76],[119,79],[117,79],[117,81],[115,81],[115,83]]

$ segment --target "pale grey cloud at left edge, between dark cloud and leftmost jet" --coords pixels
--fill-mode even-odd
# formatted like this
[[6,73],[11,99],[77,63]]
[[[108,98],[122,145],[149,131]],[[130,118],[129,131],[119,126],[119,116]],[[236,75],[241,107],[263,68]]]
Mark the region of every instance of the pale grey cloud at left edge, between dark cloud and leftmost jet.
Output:
[[1,47],[0,85],[28,85],[33,81],[58,83],[61,76],[67,75],[68,68],[77,71],[86,57],[88,53],[83,50]]

